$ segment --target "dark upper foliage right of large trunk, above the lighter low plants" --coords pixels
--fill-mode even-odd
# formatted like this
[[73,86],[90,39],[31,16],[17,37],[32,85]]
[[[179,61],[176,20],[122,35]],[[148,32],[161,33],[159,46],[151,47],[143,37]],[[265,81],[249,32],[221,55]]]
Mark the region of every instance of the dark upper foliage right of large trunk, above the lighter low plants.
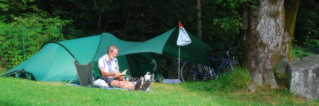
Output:
[[294,43],[319,48],[319,0],[300,0]]

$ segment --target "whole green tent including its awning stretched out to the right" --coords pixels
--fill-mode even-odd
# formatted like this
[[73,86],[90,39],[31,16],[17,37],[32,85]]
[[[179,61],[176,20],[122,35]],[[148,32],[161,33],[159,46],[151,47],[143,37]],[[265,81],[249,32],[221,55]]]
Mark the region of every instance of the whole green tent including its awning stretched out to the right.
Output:
[[[211,47],[188,33],[192,43],[180,47],[180,57],[196,63],[209,64],[207,52]],[[79,64],[93,62],[95,78],[100,76],[96,61],[110,45],[119,48],[117,56],[120,71],[129,70],[127,75],[139,77],[147,72],[159,72],[152,53],[178,56],[176,45],[178,28],[173,28],[146,42],[127,42],[109,33],[45,44],[39,52],[1,76],[26,77],[37,81],[70,81],[77,76],[74,61]]]

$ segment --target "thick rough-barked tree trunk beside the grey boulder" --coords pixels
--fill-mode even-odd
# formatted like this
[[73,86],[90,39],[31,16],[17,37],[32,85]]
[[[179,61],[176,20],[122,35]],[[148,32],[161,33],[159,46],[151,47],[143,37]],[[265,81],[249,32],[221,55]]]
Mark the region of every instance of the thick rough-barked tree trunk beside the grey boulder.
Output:
[[[253,79],[251,90],[255,90],[255,84],[278,87],[272,67],[291,57],[298,4],[299,0],[261,0],[257,8],[243,4],[239,54],[241,63],[250,70]],[[286,5],[290,5],[289,8],[285,8]]]

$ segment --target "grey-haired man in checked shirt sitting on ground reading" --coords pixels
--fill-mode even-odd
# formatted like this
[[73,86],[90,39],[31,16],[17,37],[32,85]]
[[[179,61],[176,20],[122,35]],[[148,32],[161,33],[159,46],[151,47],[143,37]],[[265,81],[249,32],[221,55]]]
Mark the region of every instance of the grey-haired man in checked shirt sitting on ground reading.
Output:
[[118,48],[114,45],[111,45],[108,48],[107,53],[99,59],[98,63],[102,74],[102,79],[112,87],[119,87],[128,90],[141,89],[145,91],[151,85],[150,80],[145,81],[144,85],[142,84],[141,80],[138,80],[135,85],[133,82],[123,80],[124,76],[121,76],[118,59],[116,58],[118,53]]

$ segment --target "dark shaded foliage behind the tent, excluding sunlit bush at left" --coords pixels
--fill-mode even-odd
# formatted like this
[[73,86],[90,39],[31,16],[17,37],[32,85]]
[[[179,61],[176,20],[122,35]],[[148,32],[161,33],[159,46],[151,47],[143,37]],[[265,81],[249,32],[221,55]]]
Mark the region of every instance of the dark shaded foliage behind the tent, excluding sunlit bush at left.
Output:
[[[239,34],[239,5],[258,0],[201,0],[203,41],[223,49]],[[90,34],[111,32],[127,41],[146,41],[177,26],[196,32],[194,0],[39,0],[39,8],[53,16],[74,20],[79,30]]]

